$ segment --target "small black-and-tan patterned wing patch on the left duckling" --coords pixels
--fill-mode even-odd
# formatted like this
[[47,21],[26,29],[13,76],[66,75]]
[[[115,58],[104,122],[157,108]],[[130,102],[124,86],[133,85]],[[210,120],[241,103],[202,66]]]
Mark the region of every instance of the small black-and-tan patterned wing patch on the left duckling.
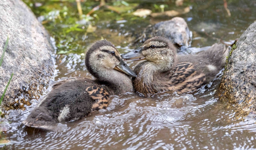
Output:
[[93,100],[96,100],[96,103],[92,105],[92,111],[107,108],[109,94],[106,90],[98,86],[89,86],[86,91]]

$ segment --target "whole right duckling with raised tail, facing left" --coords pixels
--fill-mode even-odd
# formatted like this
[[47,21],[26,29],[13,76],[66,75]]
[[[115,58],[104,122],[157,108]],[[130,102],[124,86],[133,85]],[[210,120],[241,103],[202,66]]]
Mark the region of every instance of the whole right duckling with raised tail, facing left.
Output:
[[161,36],[153,37],[139,49],[122,55],[129,61],[144,60],[134,67],[135,91],[151,96],[160,91],[188,93],[214,79],[224,67],[228,49],[214,44],[195,55],[177,55],[174,44]]

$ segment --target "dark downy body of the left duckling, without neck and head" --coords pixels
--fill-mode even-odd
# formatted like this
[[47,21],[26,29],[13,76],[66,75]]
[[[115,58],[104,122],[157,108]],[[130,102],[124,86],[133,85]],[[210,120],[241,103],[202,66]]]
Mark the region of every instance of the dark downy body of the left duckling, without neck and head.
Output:
[[92,111],[105,109],[108,100],[108,92],[91,79],[69,78],[52,86],[52,91],[22,123],[52,130],[58,122],[80,119]]

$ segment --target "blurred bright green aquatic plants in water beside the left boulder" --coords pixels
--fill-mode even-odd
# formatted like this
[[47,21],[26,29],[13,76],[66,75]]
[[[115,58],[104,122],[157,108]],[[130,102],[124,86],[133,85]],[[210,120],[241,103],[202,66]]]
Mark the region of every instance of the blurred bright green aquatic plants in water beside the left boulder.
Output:
[[[46,30],[48,30],[50,35],[54,38],[57,54],[82,54],[92,41],[101,39],[101,36],[105,39],[110,36],[116,36],[115,32],[122,33],[119,31],[119,25],[121,25],[121,23],[116,24],[118,20],[130,20],[125,24],[134,24],[136,21],[143,22],[143,20],[145,20],[144,18],[132,15],[132,12],[137,9],[139,3],[129,2],[127,0],[23,1],[31,8],[37,16],[38,21],[44,25]],[[104,4],[104,6],[92,11],[100,2]],[[116,11],[112,11],[109,8]],[[88,13],[90,15],[86,15]],[[144,26],[147,25],[148,23]],[[96,28],[96,30],[89,30],[94,28]],[[106,28],[108,33],[101,34],[101,31],[107,31],[105,30]],[[109,30],[113,30],[113,32]],[[122,30],[128,32],[125,26],[122,27]]]

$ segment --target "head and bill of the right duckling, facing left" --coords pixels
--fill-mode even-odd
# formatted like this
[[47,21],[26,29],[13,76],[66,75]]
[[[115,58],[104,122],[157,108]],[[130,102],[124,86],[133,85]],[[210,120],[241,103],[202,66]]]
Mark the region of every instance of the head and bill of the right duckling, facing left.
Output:
[[122,58],[129,61],[147,60],[162,71],[167,71],[172,68],[176,55],[177,48],[174,44],[162,36],[157,36],[145,41],[139,49],[123,54]]

